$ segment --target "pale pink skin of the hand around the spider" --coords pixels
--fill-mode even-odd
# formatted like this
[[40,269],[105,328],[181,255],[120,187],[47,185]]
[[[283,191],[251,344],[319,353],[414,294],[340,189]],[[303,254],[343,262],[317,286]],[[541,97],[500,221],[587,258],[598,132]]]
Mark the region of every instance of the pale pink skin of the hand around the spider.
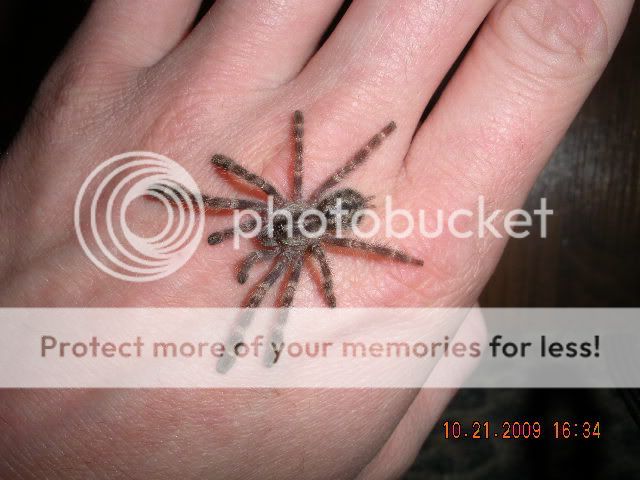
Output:
[[[80,249],[75,195],[94,166],[130,150],[180,161],[203,191],[221,196],[237,190],[213,172],[213,153],[289,191],[295,109],[305,113],[308,188],[395,120],[398,130],[349,185],[390,194],[395,205],[416,211],[475,209],[478,195],[491,208],[518,208],[605,68],[632,6],[630,0],[355,0],[316,51],[337,0],[222,0],[190,29],[199,3],[94,1],[0,170],[0,305],[240,304],[246,289],[235,283],[237,262],[229,259],[242,258],[248,245],[238,252],[203,241],[174,275],[121,282]],[[162,224],[153,202],[136,204],[130,214],[141,231]],[[211,217],[207,231],[227,225],[228,218]],[[332,251],[336,296],[342,306],[472,305],[504,244],[451,235],[394,241],[424,258],[422,268]],[[261,268],[250,278],[259,278]],[[322,305],[306,269],[295,304]],[[0,476],[393,478],[411,464],[452,394],[4,391]]]

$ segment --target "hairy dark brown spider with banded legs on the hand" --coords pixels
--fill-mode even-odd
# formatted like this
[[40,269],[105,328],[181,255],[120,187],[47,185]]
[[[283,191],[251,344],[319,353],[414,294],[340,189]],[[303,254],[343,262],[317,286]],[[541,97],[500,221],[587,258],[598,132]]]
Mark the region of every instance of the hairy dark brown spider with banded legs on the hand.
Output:
[[[255,173],[239,165],[231,158],[216,154],[211,159],[212,163],[245,182],[259,188],[273,199],[273,206],[279,211],[289,213],[293,222],[285,215],[272,215],[271,220],[261,227],[257,236],[262,249],[250,253],[242,260],[237,280],[244,284],[251,268],[259,262],[273,260],[273,266],[249,295],[247,308],[257,308],[267,292],[273,287],[287,269],[289,270],[288,283],[281,298],[281,308],[287,309],[293,303],[293,297],[298,286],[305,256],[311,255],[320,266],[322,274],[322,291],[324,299],[330,307],[336,306],[336,297],[333,288],[333,274],[327,261],[325,245],[333,245],[346,249],[361,250],[386,257],[388,259],[422,266],[423,261],[401,250],[389,248],[376,243],[365,242],[354,238],[342,238],[336,231],[340,227],[349,229],[353,223],[358,224],[362,220],[359,213],[371,207],[366,197],[352,188],[342,188],[330,192],[336,185],[342,182],[356,168],[362,165],[377,149],[384,139],[396,129],[395,122],[388,123],[382,130],[351,157],[347,163],[336,170],[308,198],[303,198],[303,160],[304,160],[304,116],[297,110],[293,114],[293,139],[295,143],[295,159],[293,165],[293,196],[285,198],[271,183]],[[154,188],[171,200],[162,188]],[[329,192],[329,193],[328,193]],[[192,195],[192,194],[191,194]],[[175,197],[174,197],[175,198]],[[192,199],[194,197],[192,196]],[[268,203],[262,200],[222,198],[210,195],[202,195],[205,209],[209,210],[252,210],[260,215],[263,220],[267,216]],[[316,215],[304,215],[305,212],[315,211]],[[324,219],[320,218],[324,217]],[[303,220],[303,221],[301,221]],[[324,221],[323,221],[324,220]],[[324,223],[324,234],[308,235],[305,232],[315,233]],[[249,231],[256,228],[255,219],[243,222],[240,228]],[[304,226],[304,231],[303,231]],[[213,232],[208,237],[209,245],[217,245],[234,235],[234,228]]]

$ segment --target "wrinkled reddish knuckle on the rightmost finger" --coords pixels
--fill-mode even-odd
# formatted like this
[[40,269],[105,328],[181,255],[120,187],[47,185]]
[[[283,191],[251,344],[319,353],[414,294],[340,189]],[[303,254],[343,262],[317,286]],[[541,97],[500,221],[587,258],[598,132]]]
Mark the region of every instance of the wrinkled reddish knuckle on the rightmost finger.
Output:
[[607,24],[595,0],[513,0],[489,25],[509,60],[537,76],[589,74],[607,56]]

